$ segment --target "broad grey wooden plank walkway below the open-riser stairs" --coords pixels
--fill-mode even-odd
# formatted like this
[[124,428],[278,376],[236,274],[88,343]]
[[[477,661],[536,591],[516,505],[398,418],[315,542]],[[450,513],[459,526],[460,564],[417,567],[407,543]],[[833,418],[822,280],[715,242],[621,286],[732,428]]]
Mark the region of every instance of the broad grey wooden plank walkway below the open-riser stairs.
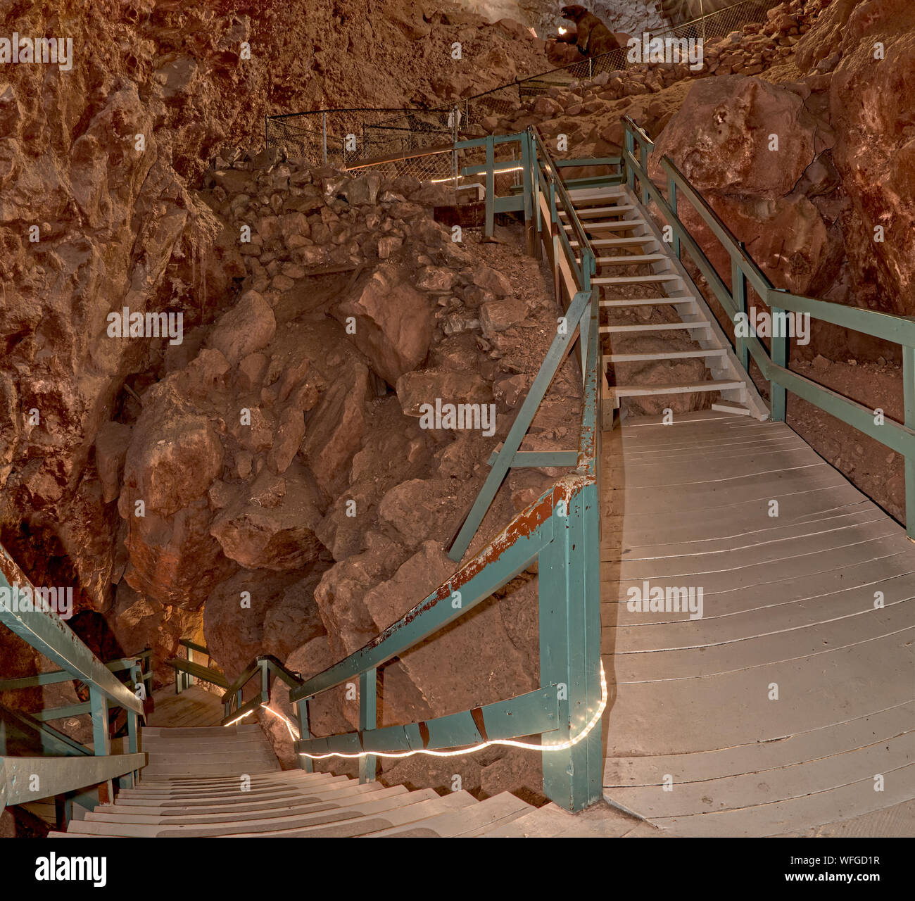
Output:
[[[915,799],[902,528],[748,416],[630,420],[603,435],[601,475],[608,801],[673,835],[750,836]],[[696,612],[701,589],[702,616],[673,588]]]

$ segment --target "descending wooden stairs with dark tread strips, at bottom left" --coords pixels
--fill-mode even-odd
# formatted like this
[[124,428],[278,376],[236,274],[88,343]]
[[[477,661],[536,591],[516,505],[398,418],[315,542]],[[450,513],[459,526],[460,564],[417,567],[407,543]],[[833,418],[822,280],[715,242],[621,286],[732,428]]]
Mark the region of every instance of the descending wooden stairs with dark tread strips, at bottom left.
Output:
[[62,838],[193,837],[621,837],[656,832],[606,805],[570,814],[502,792],[478,801],[346,776],[281,771],[260,726],[147,728],[148,765]]

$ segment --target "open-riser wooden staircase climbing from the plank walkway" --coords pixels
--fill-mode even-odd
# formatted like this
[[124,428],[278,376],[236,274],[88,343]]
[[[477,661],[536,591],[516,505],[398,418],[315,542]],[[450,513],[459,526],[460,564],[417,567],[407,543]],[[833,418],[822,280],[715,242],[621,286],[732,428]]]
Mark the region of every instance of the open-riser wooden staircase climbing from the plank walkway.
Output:
[[[638,413],[666,407],[680,413],[711,402],[764,418],[766,408],[741,375],[715,316],[630,188],[582,188],[569,196],[598,254],[592,283],[600,286],[606,316],[600,330],[609,351],[607,402],[619,408],[637,398]],[[567,214],[561,216],[571,234]]]

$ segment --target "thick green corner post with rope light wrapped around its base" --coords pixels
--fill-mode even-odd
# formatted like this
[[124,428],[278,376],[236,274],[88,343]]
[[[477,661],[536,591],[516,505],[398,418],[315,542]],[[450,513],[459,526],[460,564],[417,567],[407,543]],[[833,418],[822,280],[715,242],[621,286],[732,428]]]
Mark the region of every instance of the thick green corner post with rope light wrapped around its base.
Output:
[[570,748],[549,746],[581,735],[600,704],[597,485],[585,485],[553,516],[554,539],[539,555],[540,679],[556,687],[559,728],[543,736],[544,795],[582,810],[602,794],[601,724]]

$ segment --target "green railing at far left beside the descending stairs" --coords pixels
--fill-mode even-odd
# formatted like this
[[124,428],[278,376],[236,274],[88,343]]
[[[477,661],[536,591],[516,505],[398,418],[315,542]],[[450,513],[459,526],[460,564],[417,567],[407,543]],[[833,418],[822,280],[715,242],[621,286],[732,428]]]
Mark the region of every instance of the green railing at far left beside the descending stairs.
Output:
[[[26,574],[0,547],[0,589],[12,597],[26,588],[33,597],[38,596]],[[103,799],[111,799],[112,779],[126,777],[132,783],[136,772],[145,766],[145,754],[138,753],[138,731],[139,717],[144,715],[142,699],[150,678],[148,652],[106,666],[53,609],[44,606],[19,609],[17,603],[0,602],[0,622],[60,667],[58,672],[5,680],[0,683],[0,691],[34,689],[70,680],[82,682],[89,689],[89,701],[85,703],[38,714],[18,712],[21,724],[33,726],[44,746],[55,746],[63,756],[0,756],[0,810],[6,804],[49,798],[92,785],[101,785]],[[134,685],[142,685],[143,689],[131,691],[115,675],[121,671],[127,671]],[[113,707],[121,707],[127,716],[124,754],[112,753],[109,710]],[[48,726],[49,720],[81,713],[92,717],[91,751]]]

